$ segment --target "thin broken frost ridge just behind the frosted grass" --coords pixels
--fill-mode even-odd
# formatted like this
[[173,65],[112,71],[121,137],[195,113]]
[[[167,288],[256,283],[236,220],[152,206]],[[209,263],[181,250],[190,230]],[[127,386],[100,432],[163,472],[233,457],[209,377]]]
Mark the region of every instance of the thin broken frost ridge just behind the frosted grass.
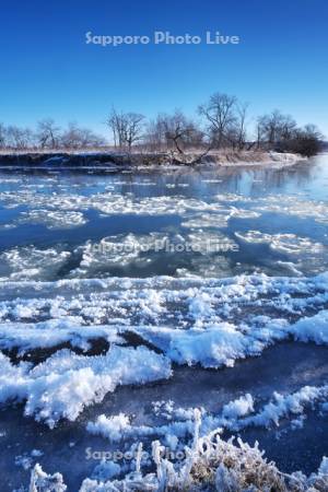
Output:
[[[219,413],[198,409],[201,414],[199,434],[207,435],[215,429],[239,432],[250,426],[278,426],[282,419],[290,419],[291,427],[300,429],[306,418],[306,411],[328,400],[328,386],[304,386],[292,394],[281,395],[274,391],[261,407],[250,394],[242,395],[224,405]],[[324,403],[323,403],[324,402]],[[168,407],[167,407],[168,403]],[[87,432],[101,435],[112,443],[136,442],[140,438],[163,438],[169,449],[183,449],[194,431],[194,415],[197,409],[175,407],[174,402],[154,402],[154,414],[161,417],[161,424],[138,425],[133,417],[119,413],[106,417],[101,414],[86,425]],[[165,411],[159,409],[165,408]]]

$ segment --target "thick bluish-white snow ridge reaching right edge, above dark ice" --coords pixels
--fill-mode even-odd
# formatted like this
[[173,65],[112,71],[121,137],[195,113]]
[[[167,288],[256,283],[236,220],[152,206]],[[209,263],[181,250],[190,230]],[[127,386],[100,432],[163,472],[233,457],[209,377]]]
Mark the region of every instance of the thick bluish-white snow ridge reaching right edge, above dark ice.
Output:
[[[301,341],[327,343],[327,314],[320,313],[295,325],[267,317],[255,317],[254,321],[253,326],[218,323],[206,329],[142,327],[136,331],[178,364],[200,363],[203,367],[216,368],[233,367],[236,360],[259,355],[267,347],[290,336]],[[198,320],[196,326],[201,323]]]

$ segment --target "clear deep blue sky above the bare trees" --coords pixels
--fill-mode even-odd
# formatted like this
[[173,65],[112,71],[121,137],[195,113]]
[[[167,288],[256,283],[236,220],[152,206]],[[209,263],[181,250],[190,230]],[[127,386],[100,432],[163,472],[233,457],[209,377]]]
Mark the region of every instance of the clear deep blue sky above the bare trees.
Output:
[[[105,133],[112,104],[192,114],[215,92],[328,137],[327,0],[0,0],[0,121],[51,116]],[[241,36],[236,46],[85,44],[85,33]]]

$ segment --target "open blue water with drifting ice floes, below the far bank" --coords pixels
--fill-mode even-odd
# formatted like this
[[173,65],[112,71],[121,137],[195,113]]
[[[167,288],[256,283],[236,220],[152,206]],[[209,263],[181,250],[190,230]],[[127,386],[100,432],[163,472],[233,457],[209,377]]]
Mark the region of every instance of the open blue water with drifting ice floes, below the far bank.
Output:
[[[31,258],[47,258],[50,249],[65,251],[65,263],[51,269],[54,279],[82,271],[83,277],[315,274],[328,269],[327,186],[327,154],[282,169],[1,172],[0,276],[20,278],[28,250]],[[107,258],[87,253],[90,244],[106,237],[116,243],[129,237],[138,247],[141,236],[154,233],[185,245],[195,235],[203,244],[216,236],[238,248],[215,253],[150,247],[129,261],[125,251]]]

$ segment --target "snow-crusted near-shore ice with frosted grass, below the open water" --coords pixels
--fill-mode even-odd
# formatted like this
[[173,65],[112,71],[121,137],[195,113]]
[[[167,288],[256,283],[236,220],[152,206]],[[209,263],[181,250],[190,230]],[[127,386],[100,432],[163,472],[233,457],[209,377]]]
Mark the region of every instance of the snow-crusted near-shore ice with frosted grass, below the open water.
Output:
[[[160,491],[159,469],[167,490],[224,477],[238,491],[326,490],[327,294],[327,274],[5,282],[0,435],[11,490],[37,462],[81,492]],[[283,473],[256,448],[229,443],[232,434],[259,440]],[[242,458],[249,467],[238,468]],[[297,469],[308,478],[284,475]],[[37,490],[48,479],[34,468]]]

